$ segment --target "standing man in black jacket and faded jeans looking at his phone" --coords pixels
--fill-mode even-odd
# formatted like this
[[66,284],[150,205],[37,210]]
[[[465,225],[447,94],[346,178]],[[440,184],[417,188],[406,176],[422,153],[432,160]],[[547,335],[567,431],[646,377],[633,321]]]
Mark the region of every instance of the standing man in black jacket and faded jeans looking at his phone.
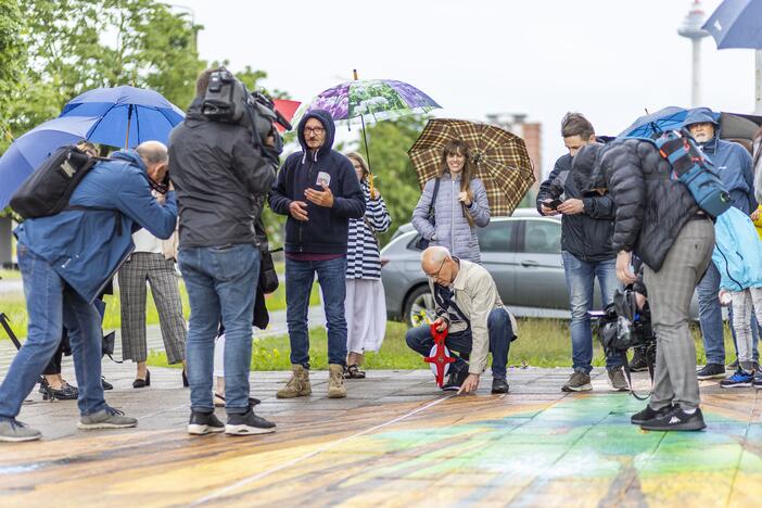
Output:
[[[593,310],[595,280],[598,279],[604,306],[613,301],[618,285],[617,253],[611,246],[614,205],[608,194],[593,192],[583,195],[572,178],[575,170],[590,174],[601,148],[596,143],[589,120],[580,113],[567,113],[561,120],[561,136],[569,153],[556,161],[554,170],[539,186],[536,205],[542,215],[562,215],[561,255],[572,314],[574,372],[561,390],[582,392],[593,390],[589,376],[593,370],[593,331],[587,313]],[[606,359],[609,380],[618,391],[627,390],[619,358]]]

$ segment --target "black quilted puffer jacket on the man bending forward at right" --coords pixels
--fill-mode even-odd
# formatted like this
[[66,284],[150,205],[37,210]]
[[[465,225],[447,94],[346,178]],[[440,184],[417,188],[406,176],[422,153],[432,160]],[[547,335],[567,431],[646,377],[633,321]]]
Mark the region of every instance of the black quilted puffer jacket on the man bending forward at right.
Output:
[[686,186],[670,179],[671,166],[653,143],[637,139],[606,145],[592,177],[617,204],[613,249],[637,254],[659,271],[683,226],[699,212]]

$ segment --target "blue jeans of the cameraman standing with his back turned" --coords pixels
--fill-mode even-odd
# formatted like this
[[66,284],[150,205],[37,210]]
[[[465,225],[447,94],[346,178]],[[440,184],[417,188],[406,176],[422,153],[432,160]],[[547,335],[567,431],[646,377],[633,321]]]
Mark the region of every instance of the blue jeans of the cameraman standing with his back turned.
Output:
[[182,249],[179,266],[188,289],[187,361],[191,409],[214,410],[214,341],[225,327],[225,410],[249,410],[252,319],[259,280],[259,250],[251,243]]

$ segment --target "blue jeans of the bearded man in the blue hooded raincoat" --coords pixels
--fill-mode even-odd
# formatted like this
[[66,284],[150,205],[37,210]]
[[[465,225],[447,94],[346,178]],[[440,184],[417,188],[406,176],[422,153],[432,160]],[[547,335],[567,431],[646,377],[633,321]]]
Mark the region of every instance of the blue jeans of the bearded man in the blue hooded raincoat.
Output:
[[[696,287],[699,300],[701,340],[708,364],[725,365],[725,338],[720,307],[720,271],[710,263]],[[731,321],[732,322],[732,321]]]

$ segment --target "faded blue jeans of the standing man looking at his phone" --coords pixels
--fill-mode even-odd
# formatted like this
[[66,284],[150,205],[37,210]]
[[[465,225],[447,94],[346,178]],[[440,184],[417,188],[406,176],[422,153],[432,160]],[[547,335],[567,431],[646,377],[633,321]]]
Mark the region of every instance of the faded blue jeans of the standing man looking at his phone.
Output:
[[[572,365],[575,371],[590,373],[593,370],[593,330],[590,316],[593,310],[593,291],[595,279],[598,279],[604,307],[613,302],[613,294],[619,282],[617,280],[617,259],[601,262],[584,262],[572,253],[562,251],[563,271],[569,289],[571,307]],[[622,358],[612,356],[606,358],[606,367],[612,369],[622,365]]]

